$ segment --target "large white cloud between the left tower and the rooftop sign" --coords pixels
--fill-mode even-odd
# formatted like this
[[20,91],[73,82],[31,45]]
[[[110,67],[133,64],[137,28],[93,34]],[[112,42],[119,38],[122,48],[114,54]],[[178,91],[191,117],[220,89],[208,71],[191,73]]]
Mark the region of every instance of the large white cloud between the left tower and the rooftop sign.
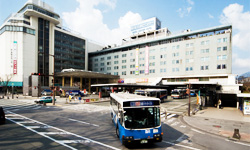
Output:
[[110,29],[103,22],[101,10],[95,8],[105,5],[110,9],[116,6],[116,0],[77,0],[79,6],[73,12],[64,12],[62,15],[67,27],[81,33],[83,37],[103,44],[121,44],[122,38],[130,36],[130,24],[141,21],[140,14],[127,12],[119,19],[119,27]]

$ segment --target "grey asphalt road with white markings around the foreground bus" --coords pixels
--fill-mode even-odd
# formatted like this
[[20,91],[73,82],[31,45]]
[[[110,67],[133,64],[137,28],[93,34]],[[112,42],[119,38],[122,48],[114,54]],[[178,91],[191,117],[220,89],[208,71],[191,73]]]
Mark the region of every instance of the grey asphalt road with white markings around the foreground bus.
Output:
[[[169,100],[163,106],[181,112],[187,101]],[[162,142],[127,148],[116,137],[108,102],[58,107],[1,99],[0,106],[8,118],[0,125],[0,149],[250,149],[250,144],[190,128],[172,113],[162,120]]]

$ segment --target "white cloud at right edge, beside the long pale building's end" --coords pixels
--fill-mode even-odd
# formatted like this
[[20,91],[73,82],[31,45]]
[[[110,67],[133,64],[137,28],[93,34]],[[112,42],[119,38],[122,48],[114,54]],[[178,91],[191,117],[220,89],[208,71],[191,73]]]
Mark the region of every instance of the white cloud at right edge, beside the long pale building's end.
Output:
[[243,12],[243,6],[230,4],[223,9],[220,17],[222,24],[233,26],[233,46],[244,51],[250,51],[250,12]]

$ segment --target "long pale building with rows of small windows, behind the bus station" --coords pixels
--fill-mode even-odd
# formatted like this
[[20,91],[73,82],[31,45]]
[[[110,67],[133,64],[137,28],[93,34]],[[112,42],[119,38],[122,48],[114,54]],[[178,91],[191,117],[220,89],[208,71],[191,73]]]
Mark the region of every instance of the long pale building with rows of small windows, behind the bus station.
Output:
[[[176,35],[167,29],[133,35],[120,47],[90,53],[89,68],[120,75],[125,83],[231,74],[231,31],[232,26],[226,25]],[[199,80],[207,81],[205,77]]]

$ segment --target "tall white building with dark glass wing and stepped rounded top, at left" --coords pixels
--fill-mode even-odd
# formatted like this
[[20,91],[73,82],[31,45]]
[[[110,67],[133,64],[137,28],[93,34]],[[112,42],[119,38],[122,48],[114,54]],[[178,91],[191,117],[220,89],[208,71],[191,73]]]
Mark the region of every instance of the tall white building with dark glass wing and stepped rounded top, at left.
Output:
[[87,70],[88,48],[91,46],[86,38],[62,27],[60,16],[51,6],[29,0],[0,27],[0,75],[12,76],[9,85],[23,87],[25,94],[31,73],[43,74],[40,86],[50,86],[49,75],[54,72]]

